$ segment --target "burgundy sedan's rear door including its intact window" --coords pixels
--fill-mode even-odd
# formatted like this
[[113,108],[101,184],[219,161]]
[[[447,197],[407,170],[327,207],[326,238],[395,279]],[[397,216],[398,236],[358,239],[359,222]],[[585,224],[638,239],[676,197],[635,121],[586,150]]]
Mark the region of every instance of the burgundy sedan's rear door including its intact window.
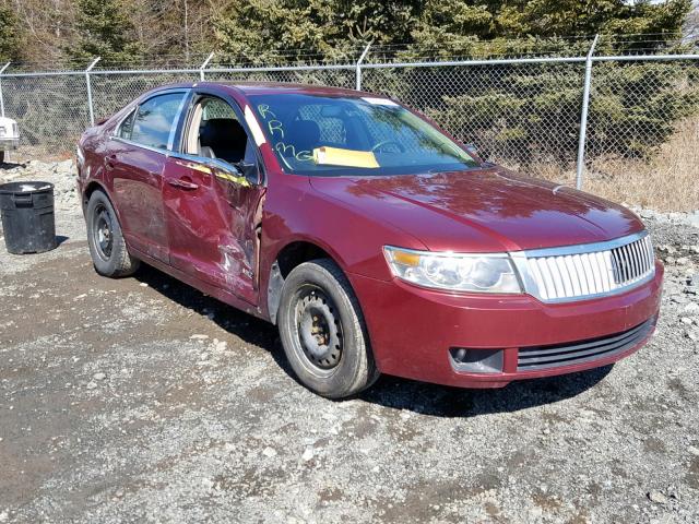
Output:
[[118,144],[105,158],[127,243],[163,262],[169,262],[163,171],[187,96],[176,90],[143,100],[119,126]]

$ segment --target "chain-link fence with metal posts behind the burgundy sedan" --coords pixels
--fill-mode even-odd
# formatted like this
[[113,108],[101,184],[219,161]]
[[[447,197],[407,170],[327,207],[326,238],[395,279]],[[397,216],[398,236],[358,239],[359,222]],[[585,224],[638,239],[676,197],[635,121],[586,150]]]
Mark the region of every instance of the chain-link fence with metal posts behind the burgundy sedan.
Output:
[[[360,84],[364,91],[395,97],[426,114],[488,159],[547,178],[570,179],[577,168],[579,175],[604,176],[629,162],[650,165],[663,144],[699,131],[699,55],[591,52],[248,69],[5,71],[0,74],[0,102],[4,114],[19,122],[19,155],[71,154],[91,124],[87,85],[92,112],[99,120],[152,87],[201,78],[347,88]],[[589,111],[583,117],[585,99]]]

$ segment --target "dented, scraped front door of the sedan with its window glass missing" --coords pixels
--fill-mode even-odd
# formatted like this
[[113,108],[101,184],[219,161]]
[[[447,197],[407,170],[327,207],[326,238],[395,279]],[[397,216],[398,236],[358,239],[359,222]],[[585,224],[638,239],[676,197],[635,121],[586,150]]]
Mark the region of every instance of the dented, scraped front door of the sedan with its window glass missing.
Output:
[[170,264],[257,303],[256,229],[264,188],[235,167],[257,166],[254,144],[221,98],[203,96],[191,112],[186,152],[170,155],[164,174]]

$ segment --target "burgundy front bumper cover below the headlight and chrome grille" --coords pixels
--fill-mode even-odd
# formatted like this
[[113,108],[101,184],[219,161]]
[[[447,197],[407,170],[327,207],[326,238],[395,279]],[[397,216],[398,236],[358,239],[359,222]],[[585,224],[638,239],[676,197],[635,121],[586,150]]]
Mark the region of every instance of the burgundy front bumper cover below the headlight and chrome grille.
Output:
[[[463,388],[501,388],[513,380],[606,366],[638,350],[655,325],[663,266],[655,262],[653,279],[626,293],[567,303],[544,303],[529,295],[449,295],[356,274],[350,274],[350,279],[381,372]],[[595,340],[644,322],[650,329],[621,352],[572,365],[518,370],[520,348]],[[502,350],[502,371],[459,371],[451,348]]]

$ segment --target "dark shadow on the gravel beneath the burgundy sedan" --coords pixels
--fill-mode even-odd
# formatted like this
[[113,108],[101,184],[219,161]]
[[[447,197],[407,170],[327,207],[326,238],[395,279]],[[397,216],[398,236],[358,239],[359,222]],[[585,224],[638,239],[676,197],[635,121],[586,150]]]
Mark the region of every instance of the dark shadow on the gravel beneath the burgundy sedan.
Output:
[[[209,297],[151,266],[142,265],[134,276],[180,306],[209,315],[232,335],[268,350],[280,368],[296,380],[284,356],[276,326]],[[612,368],[611,365],[560,377],[522,380],[496,390],[466,390],[384,376],[356,398],[436,417],[513,413],[574,397],[602,381]]]

